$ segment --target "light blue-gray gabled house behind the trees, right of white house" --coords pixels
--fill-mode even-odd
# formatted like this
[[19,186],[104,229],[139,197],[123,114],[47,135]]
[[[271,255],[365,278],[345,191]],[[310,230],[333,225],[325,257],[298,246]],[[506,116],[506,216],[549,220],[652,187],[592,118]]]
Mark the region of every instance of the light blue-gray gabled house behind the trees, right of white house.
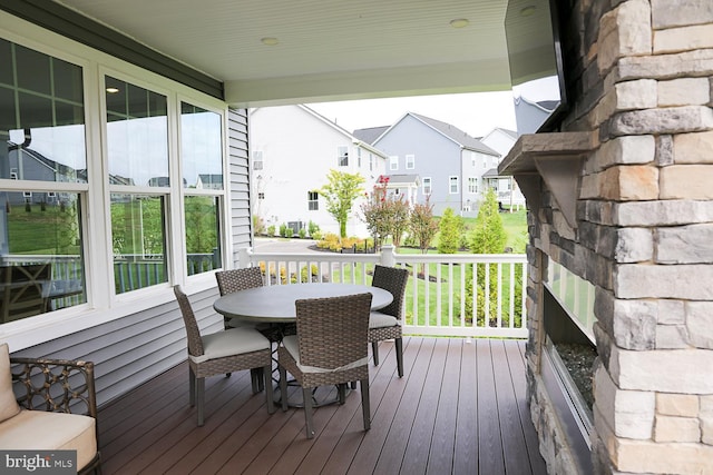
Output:
[[452,208],[476,216],[486,171],[498,166],[499,154],[450,123],[407,112],[384,130],[374,147],[389,155],[387,174],[420,178],[417,200],[433,205],[433,214]]

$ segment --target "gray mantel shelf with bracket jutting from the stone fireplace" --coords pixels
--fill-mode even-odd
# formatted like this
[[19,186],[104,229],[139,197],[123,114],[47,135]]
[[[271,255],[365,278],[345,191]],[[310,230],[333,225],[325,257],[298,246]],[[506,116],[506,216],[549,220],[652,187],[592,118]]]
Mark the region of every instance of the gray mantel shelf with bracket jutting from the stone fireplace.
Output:
[[592,132],[524,135],[515,142],[498,171],[515,177],[534,211],[540,208],[541,177],[567,224],[575,229],[582,165],[585,155],[595,147]]

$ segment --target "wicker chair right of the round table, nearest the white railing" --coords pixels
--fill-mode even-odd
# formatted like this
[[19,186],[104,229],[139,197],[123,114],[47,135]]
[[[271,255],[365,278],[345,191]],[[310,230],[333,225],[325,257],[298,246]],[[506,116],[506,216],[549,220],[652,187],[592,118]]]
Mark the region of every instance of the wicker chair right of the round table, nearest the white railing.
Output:
[[374,276],[371,281],[373,287],[389,290],[393,295],[391,304],[384,308],[372,311],[369,316],[369,343],[371,343],[374,365],[379,366],[379,342],[393,338],[395,343],[399,377],[403,377],[401,320],[403,317],[403,298],[406,296],[406,284],[408,279],[408,269],[377,265],[374,266]]

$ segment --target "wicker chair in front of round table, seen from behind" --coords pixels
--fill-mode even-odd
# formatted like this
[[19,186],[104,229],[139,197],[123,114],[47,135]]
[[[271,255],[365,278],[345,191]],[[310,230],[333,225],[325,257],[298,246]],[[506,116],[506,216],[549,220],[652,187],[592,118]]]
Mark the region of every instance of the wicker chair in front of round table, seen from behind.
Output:
[[314,437],[312,389],[338,385],[344,403],[346,384],[359,380],[364,431],[371,427],[369,406],[369,310],[371,294],[296,300],[297,335],[277,348],[282,410],[287,410],[286,372],[302,387],[307,438]]

